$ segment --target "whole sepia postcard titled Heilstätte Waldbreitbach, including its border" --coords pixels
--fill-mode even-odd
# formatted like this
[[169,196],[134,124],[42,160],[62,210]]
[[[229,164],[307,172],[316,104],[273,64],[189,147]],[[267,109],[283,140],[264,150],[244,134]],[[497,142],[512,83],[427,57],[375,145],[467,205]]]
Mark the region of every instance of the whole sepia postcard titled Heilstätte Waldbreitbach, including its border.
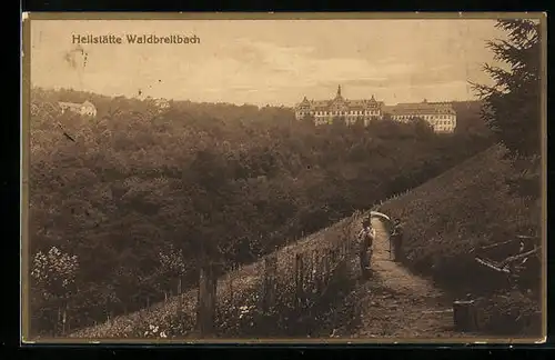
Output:
[[21,338],[537,343],[545,13],[23,13]]

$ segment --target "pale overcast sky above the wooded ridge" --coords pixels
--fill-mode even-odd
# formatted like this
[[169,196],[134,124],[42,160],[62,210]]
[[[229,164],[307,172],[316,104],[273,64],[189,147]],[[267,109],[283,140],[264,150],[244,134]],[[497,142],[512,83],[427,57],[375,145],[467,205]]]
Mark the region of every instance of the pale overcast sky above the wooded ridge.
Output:
[[[199,44],[84,44],[73,34],[195,34]],[[304,96],[465,100],[488,82],[492,20],[173,20],[31,22],[31,82],[103,94],[292,106]],[[69,54],[69,56],[68,56]],[[73,61],[71,60],[73,59]]]

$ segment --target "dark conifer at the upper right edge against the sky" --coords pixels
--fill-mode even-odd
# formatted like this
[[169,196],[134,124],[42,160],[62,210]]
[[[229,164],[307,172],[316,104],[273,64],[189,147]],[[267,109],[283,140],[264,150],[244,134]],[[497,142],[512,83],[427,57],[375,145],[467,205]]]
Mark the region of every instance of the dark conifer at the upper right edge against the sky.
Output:
[[[503,19],[496,23],[506,33],[487,48],[503,66],[484,64],[493,86],[474,84],[483,102],[482,119],[511,152],[516,176],[507,183],[521,196],[541,198],[543,153],[542,28],[537,20]],[[545,39],[544,39],[545,40]],[[545,88],[545,86],[544,86]]]

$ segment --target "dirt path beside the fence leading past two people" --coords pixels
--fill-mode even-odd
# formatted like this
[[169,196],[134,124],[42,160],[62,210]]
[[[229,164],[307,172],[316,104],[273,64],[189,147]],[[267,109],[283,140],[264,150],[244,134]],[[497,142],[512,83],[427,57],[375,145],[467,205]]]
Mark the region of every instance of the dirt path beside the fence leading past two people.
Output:
[[[373,278],[351,296],[360,323],[351,338],[468,338],[453,330],[452,302],[426,279],[390,260],[389,233],[374,219]],[[344,334],[349,337],[347,334]]]

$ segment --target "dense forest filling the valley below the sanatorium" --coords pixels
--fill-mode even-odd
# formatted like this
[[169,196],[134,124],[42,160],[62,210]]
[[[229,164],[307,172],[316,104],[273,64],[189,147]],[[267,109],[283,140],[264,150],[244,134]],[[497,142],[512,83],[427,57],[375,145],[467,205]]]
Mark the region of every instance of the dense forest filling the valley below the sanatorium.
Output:
[[32,90],[37,107],[84,100],[94,119],[31,119],[32,333],[53,331],[62,307],[72,329],[143,308],[194,287],[201,261],[254,261],[492,144],[478,102],[455,103],[457,132],[435,134],[424,121],[314,127],[287,108],[174,101],[158,113],[149,100]]

